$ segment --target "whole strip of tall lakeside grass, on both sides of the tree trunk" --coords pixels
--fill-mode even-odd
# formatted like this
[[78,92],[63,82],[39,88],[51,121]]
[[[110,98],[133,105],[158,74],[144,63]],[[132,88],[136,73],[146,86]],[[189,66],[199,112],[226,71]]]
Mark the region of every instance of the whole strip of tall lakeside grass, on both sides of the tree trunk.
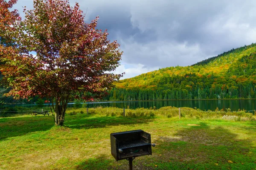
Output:
[[[21,115],[31,115],[33,110],[41,111],[41,109],[50,110],[49,107],[44,106],[42,107],[12,107],[12,108],[4,108],[1,110],[1,117],[11,117],[11,116],[21,116]],[[97,107],[97,108],[67,108],[66,111],[67,115],[76,115],[76,114],[88,114],[88,115],[100,115],[100,116],[123,116],[124,109],[123,108],[113,108],[113,107]],[[215,111],[202,111],[198,108],[180,108],[180,117],[181,118],[189,118],[189,119],[227,119],[230,116],[236,116],[236,119],[229,119],[229,120],[236,120],[236,121],[247,121],[247,120],[256,120],[255,113],[249,113],[245,110],[239,111],[231,111],[230,109],[215,109]],[[153,108],[137,108],[137,109],[130,109],[125,108],[125,116],[131,118],[137,117],[147,117],[153,118],[155,116],[163,116],[167,118],[177,117],[179,116],[179,108],[167,106],[156,109]],[[226,117],[225,117],[226,116]],[[223,118],[224,117],[224,118]]]

